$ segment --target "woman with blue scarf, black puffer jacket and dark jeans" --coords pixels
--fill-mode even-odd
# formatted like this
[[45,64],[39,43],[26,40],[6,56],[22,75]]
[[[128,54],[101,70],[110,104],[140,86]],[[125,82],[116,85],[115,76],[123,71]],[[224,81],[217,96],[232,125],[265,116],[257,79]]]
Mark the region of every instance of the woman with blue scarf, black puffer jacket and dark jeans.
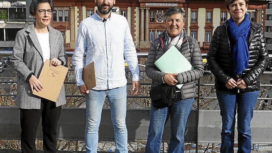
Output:
[[268,63],[262,25],[246,14],[249,0],[226,0],[231,18],[218,26],[207,55],[222,117],[221,153],[233,153],[237,112],[238,152],[250,153],[250,121]]

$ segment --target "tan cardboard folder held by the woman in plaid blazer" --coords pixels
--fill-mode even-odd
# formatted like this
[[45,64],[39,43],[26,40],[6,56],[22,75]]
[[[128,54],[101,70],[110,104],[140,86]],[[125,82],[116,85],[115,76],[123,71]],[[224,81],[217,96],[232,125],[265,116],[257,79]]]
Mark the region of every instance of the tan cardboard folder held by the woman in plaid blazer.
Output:
[[56,102],[68,68],[62,65],[49,66],[49,64],[50,61],[46,60],[38,79],[44,88],[39,92],[34,90],[33,94]]

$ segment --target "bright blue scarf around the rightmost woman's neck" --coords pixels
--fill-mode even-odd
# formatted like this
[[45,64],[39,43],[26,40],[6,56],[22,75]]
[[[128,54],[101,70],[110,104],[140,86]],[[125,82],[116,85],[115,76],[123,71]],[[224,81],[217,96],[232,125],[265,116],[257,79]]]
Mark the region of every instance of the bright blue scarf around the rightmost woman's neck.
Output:
[[246,39],[249,35],[250,20],[247,14],[244,16],[244,21],[237,26],[232,18],[228,20],[229,30],[231,32],[232,39],[235,41],[233,46],[233,71],[235,74],[242,74],[249,66],[249,49]]

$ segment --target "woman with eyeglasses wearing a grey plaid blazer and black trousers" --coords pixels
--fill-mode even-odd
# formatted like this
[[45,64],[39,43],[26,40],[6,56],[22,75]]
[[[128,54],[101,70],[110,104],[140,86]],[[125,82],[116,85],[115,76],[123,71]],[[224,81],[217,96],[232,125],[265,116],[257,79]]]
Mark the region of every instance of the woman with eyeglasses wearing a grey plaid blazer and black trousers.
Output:
[[32,94],[43,89],[37,79],[46,59],[50,66],[66,65],[61,32],[52,28],[52,0],[33,0],[29,6],[35,22],[17,32],[11,63],[17,72],[17,100],[20,108],[22,153],[36,152],[35,140],[40,117],[42,118],[43,149],[46,153],[56,152],[57,122],[62,104],[66,104],[65,89],[53,102]]

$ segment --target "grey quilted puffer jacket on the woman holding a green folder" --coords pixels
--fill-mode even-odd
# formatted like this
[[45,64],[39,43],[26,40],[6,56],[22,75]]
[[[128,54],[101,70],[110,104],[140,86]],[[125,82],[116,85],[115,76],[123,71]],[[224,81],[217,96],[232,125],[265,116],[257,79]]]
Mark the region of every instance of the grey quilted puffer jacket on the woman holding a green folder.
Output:
[[[164,40],[166,30],[160,34],[162,40]],[[198,80],[203,76],[204,68],[202,63],[202,56],[198,46],[198,41],[183,31],[183,43],[179,51],[182,55],[191,63],[193,70],[185,71],[177,75],[177,81],[179,84],[184,84],[181,87],[181,99],[188,99],[195,96],[195,80]],[[151,46],[148,53],[146,74],[152,79],[152,84],[160,85],[163,84],[163,76],[166,74],[161,72],[156,66],[155,61],[164,54],[159,38],[156,38]]]

